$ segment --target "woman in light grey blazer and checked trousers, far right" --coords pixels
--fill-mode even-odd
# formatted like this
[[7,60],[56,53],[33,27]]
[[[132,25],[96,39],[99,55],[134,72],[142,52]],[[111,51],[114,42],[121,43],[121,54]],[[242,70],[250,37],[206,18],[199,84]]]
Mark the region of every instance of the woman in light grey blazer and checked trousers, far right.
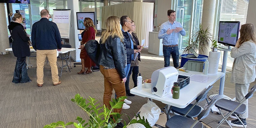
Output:
[[[240,102],[248,93],[250,83],[254,82],[256,78],[256,30],[253,24],[248,23],[241,26],[240,38],[231,50],[231,57],[234,58],[231,83],[235,84],[236,101]],[[246,112],[238,115],[238,117],[247,126],[248,100],[244,104],[246,105]],[[238,119],[229,121],[229,124],[244,127]]]

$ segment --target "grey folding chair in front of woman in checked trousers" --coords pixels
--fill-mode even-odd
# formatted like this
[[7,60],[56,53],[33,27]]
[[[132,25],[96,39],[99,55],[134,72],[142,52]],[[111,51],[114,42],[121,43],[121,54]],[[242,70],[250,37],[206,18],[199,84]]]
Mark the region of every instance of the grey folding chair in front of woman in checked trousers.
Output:
[[253,93],[256,91],[256,85],[254,85],[250,92],[248,92],[245,97],[241,100],[241,102],[236,102],[236,101],[232,101],[232,100],[227,100],[227,99],[220,99],[216,102],[215,106],[219,109],[228,111],[229,113],[224,116],[222,113],[222,117],[223,119],[220,121],[219,125],[216,127],[218,128],[224,121],[226,121],[229,125],[230,128],[232,128],[232,126],[229,124],[229,122],[227,121],[227,118],[231,115],[234,114],[236,116],[236,118],[243,124],[244,128],[246,128],[246,126],[244,125],[244,123],[240,120],[240,118],[238,118],[238,114],[243,114],[246,111],[246,105],[243,104],[249,97],[251,97],[253,95]]

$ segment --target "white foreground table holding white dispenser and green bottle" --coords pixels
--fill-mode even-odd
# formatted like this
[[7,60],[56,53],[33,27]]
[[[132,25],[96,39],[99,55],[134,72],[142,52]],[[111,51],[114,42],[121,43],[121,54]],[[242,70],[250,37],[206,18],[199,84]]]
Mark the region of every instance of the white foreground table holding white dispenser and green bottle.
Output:
[[[188,73],[178,71],[180,75],[185,76],[192,76],[194,74],[197,75],[204,75],[202,72],[196,71],[189,71]],[[161,101],[164,104],[170,105],[169,109],[166,108],[165,112],[167,115],[167,120],[170,118],[169,111],[171,110],[172,106],[185,108],[188,104],[190,104],[196,97],[206,88],[213,85],[218,79],[223,77],[225,74],[223,72],[218,72],[217,74],[207,74],[204,76],[209,77],[210,79],[206,83],[200,83],[196,81],[191,81],[186,87],[180,90],[180,98],[173,99],[172,94],[168,94],[164,97],[159,97],[151,93],[151,89],[146,89],[144,84],[142,84],[142,90],[137,90],[137,87],[130,90],[132,94],[141,96],[141,97],[148,97],[150,99]],[[168,111],[168,113],[167,113]]]

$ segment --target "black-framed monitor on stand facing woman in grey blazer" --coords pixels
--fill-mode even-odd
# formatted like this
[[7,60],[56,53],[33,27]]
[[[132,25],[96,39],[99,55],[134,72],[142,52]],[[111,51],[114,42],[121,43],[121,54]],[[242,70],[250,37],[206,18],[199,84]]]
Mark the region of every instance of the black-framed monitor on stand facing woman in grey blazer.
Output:
[[218,43],[235,46],[239,34],[239,21],[220,21]]

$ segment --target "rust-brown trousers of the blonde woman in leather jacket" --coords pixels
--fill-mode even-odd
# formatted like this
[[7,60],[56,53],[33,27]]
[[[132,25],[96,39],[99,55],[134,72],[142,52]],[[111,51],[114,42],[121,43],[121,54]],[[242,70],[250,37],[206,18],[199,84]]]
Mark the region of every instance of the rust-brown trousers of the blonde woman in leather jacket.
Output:
[[[108,109],[111,107],[109,101],[111,100],[113,89],[116,92],[117,98],[126,96],[125,92],[125,84],[122,83],[122,78],[120,77],[118,71],[116,69],[104,69],[102,65],[100,65],[100,72],[104,76],[104,96],[103,103]],[[122,107],[118,109],[114,109],[115,113],[121,113]]]

